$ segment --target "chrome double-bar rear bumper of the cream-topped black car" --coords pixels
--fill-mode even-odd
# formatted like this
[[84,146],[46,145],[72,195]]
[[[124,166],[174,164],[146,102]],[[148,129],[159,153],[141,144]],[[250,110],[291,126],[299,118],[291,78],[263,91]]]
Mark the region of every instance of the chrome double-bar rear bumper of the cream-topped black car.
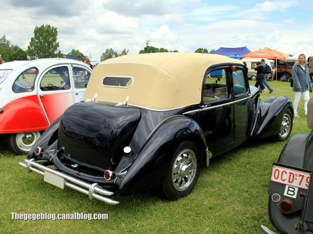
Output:
[[91,184],[78,180],[77,178],[64,174],[63,172],[58,172],[55,169],[51,169],[50,167],[41,165],[40,163],[35,162],[33,158],[30,160],[25,159],[25,162],[19,162],[19,165],[21,165],[22,167],[26,167],[29,172],[37,172],[42,176],[44,176],[45,171],[55,174],[57,176],[61,176],[62,178],[64,178],[65,186],[71,187],[73,190],[77,190],[83,194],[88,195],[90,200],[98,199],[99,201],[103,201],[111,205],[117,205],[118,203],[120,203],[119,201],[114,201],[113,199],[105,197],[113,195],[114,192],[104,190],[104,188],[99,186],[97,183]]

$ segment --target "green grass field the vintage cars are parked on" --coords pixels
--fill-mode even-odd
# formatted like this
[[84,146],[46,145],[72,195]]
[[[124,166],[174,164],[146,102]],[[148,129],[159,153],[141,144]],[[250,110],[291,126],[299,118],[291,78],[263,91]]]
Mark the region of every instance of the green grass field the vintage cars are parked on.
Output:
[[[285,95],[294,100],[289,83],[273,82],[275,91],[262,100]],[[291,135],[308,133],[303,99]],[[15,156],[0,142],[0,233],[258,233],[261,224],[273,228],[267,215],[267,185],[271,165],[285,142],[259,141],[211,160],[203,167],[193,192],[169,202],[152,192],[129,197],[115,196],[118,206],[89,201],[88,196],[43,182],[18,165]],[[109,220],[22,221],[17,213],[109,214]]]

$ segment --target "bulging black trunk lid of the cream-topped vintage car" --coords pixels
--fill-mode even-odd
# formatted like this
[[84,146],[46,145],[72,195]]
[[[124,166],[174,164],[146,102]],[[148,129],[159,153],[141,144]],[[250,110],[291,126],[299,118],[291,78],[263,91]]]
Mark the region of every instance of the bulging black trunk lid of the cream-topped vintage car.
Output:
[[115,169],[141,119],[138,108],[81,102],[68,108],[59,128],[63,165],[98,176]]

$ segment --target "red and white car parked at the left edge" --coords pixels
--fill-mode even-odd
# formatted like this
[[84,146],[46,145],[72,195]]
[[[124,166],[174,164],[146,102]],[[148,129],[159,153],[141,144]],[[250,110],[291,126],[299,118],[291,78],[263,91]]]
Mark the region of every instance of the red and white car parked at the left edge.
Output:
[[77,60],[43,58],[0,65],[0,135],[10,147],[28,153],[63,112],[81,101],[91,69]]

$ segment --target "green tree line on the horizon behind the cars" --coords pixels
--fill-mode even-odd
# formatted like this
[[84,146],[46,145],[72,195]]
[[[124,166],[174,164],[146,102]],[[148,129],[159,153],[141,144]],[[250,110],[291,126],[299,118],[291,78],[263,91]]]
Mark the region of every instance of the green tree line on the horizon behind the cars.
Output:
[[[7,39],[6,35],[0,37],[0,55],[5,61],[12,60],[27,60],[27,58],[56,58],[63,57],[63,53],[59,49],[60,45],[58,43],[58,29],[49,24],[43,24],[42,26],[35,26],[33,31],[33,37],[31,37],[31,42],[26,50],[21,49],[17,45],[11,44],[10,40]],[[198,48],[195,50],[195,53],[211,53],[215,49],[211,49],[209,52],[205,48]],[[149,46],[148,41],[146,47],[141,49],[139,53],[162,53],[162,52],[178,52],[177,50],[170,51],[165,48],[157,48]],[[123,49],[122,52],[118,53],[112,48],[106,49],[102,56],[100,57],[101,61],[104,61],[109,58],[114,58],[118,56],[127,55],[128,49]],[[69,56],[75,56],[86,58],[81,51],[78,49],[72,49],[69,53]]]

